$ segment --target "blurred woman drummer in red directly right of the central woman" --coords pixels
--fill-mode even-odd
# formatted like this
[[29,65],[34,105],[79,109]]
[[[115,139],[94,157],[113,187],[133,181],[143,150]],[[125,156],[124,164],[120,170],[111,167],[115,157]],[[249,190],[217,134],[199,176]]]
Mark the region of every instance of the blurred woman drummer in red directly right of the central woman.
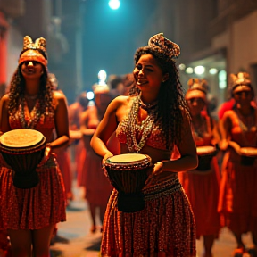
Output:
[[[206,94],[208,84],[205,79],[189,79],[186,94],[187,104],[192,116],[192,130],[197,152],[213,155],[216,148],[213,146],[220,140],[217,132],[217,122],[207,113]],[[212,149],[211,147],[212,146]],[[199,154],[199,153],[198,153]],[[199,157],[201,158],[201,157]],[[203,157],[204,158],[204,157]],[[206,157],[205,157],[206,158]],[[201,160],[201,159],[199,159]],[[200,161],[201,162],[201,161]],[[196,238],[203,236],[204,257],[211,257],[211,248],[214,239],[219,236],[220,215],[217,211],[220,187],[220,168],[217,158],[207,160],[208,170],[193,170],[181,172],[178,175],[188,196],[195,214]],[[204,168],[204,167],[203,167]]]

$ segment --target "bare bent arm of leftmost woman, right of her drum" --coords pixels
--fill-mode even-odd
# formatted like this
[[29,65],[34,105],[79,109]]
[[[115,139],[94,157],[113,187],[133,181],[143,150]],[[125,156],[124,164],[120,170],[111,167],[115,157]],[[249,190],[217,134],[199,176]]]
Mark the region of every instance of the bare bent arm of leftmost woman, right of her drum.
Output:
[[54,101],[56,108],[54,112],[54,123],[57,138],[49,145],[54,150],[69,143],[69,121],[68,121],[68,108],[65,95],[60,92],[54,91]]

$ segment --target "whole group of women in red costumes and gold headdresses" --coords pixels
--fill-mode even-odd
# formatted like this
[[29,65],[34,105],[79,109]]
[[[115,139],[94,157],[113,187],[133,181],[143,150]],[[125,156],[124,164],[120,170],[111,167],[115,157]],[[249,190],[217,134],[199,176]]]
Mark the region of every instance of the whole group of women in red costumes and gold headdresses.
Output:
[[[211,257],[222,226],[235,235],[235,256],[247,251],[242,234],[252,232],[255,247],[251,254],[256,256],[253,86],[246,73],[231,75],[229,89],[235,104],[217,122],[206,108],[204,79],[190,79],[184,95],[175,62],[179,54],[176,43],[162,33],[154,35],[137,49],[130,94],[112,100],[104,88],[95,88],[95,106],[81,116],[85,147],[94,150],[87,151],[84,168],[92,232],[97,205],[103,220],[101,256],[195,257],[195,239],[203,236],[203,254]],[[1,236],[10,237],[14,257],[49,256],[54,227],[66,220],[65,189],[55,153],[69,144],[70,136],[65,96],[54,90],[48,76],[45,38],[33,42],[24,37],[19,66],[0,108],[2,134],[36,129],[47,143],[36,170],[39,182],[30,188],[13,185],[16,171],[1,158]],[[220,168],[215,156],[219,149],[224,153],[218,155],[222,156]],[[104,177],[102,165],[117,153],[141,153],[151,159],[141,211],[120,211],[120,194],[111,187],[111,178]],[[97,165],[91,165],[92,160]],[[99,179],[88,184],[96,172]],[[104,185],[112,191],[109,200]],[[106,197],[101,197],[103,191]],[[106,210],[102,203],[107,204]]]

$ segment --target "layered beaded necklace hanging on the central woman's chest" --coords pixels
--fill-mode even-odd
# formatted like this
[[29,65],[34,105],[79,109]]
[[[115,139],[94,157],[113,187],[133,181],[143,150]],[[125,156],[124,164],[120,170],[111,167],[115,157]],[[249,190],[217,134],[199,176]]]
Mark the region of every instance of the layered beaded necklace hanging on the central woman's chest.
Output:
[[[129,147],[129,153],[139,153],[142,148],[145,146],[147,138],[150,136],[153,129],[154,122],[157,120],[157,102],[151,104],[151,108],[147,110],[147,117],[145,120],[139,124],[138,121],[138,111],[140,107],[140,95],[137,95],[135,98],[130,112],[129,120],[127,123],[127,145]],[[137,135],[141,135],[139,143],[137,143]]]

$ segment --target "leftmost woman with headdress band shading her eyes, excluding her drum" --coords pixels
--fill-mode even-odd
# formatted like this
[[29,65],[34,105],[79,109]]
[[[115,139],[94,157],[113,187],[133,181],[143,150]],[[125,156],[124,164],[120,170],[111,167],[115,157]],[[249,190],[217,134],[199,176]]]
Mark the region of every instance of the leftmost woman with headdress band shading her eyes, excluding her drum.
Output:
[[[35,43],[24,37],[19,66],[10,92],[0,103],[1,133],[12,129],[36,129],[46,137],[45,158],[37,166],[39,183],[21,189],[13,186],[14,171],[1,162],[0,229],[7,229],[12,256],[48,256],[54,225],[66,220],[62,174],[55,149],[69,141],[68,112],[63,94],[53,91],[48,78],[46,39]],[[57,138],[53,141],[53,131]],[[53,142],[52,142],[53,141]]]

